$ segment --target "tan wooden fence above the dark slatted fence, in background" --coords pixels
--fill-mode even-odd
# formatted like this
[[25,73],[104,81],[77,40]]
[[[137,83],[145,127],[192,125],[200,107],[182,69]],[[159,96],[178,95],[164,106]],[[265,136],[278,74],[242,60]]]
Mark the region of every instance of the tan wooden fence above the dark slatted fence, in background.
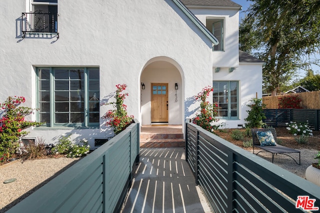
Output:
[[262,97],[262,103],[266,105],[266,109],[277,109],[278,98],[283,96],[298,96],[301,99],[301,106],[303,109],[320,109],[320,91],[265,96]]

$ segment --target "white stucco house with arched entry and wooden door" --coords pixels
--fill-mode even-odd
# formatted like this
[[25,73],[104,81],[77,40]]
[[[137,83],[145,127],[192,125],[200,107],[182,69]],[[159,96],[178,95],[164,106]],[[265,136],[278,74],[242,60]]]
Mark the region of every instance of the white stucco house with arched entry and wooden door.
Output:
[[45,122],[28,138],[111,137],[101,104],[126,84],[141,125],[183,125],[213,86],[220,121],[242,126],[262,96],[260,61],[238,49],[241,6],[231,0],[1,0],[0,102],[23,96]]

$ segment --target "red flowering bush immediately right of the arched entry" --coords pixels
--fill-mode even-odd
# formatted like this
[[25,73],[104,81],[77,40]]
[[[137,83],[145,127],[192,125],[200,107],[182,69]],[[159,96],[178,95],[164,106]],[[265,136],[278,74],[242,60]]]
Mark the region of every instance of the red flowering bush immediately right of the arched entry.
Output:
[[217,115],[217,104],[211,104],[206,101],[206,98],[209,96],[210,92],[213,91],[213,88],[208,86],[204,87],[201,92],[199,92],[195,99],[200,99],[200,111],[195,114],[195,118],[192,119],[192,123],[202,127],[203,129],[213,132],[213,130],[218,129],[218,125],[212,125],[212,122],[218,121],[215,118]]

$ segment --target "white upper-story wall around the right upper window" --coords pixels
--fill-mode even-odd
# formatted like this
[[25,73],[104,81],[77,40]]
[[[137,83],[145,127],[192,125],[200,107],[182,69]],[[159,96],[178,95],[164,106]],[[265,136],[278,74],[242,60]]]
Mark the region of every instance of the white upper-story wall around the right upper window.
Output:
[[238,67],[239,65],[239,10],[222,8],[192,8],[190,10],[205,25],[206,18],[224,20],[224,51],[212,51],[213,67]]

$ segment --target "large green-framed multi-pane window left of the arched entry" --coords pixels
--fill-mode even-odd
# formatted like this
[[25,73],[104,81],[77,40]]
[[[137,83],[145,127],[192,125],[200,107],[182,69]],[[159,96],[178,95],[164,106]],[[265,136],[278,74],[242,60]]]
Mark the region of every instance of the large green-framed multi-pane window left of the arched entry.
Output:
[[99,68],[37,69],[38,121],[46,126],[99,123]]

